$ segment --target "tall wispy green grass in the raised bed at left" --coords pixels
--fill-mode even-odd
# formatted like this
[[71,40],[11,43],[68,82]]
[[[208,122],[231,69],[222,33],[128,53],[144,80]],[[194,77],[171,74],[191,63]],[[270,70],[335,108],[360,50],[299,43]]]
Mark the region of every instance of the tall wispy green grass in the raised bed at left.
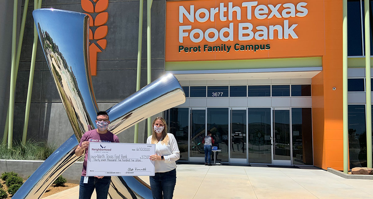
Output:
[[0,144],[0,159],[46,160],[56,149],[53,144],[35,140],[27,140],[25,144],[15,142],[13,149]]

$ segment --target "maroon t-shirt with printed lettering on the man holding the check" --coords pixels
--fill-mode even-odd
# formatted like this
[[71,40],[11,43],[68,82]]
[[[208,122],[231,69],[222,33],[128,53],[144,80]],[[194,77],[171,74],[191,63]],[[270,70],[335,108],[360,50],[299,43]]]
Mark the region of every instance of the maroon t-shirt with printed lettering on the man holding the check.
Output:
[[[114,135],[112,132],[107,131],[105,134],[97,133],[97,130],[90,130],[83,134],[80,140],[79,146],[82,146],[84,141],[88,142],[119,142],[118,136]],[[85,156],[83,162],[82,176],[87,173],[87,160],[88,160],[88,147],[85,148]]]

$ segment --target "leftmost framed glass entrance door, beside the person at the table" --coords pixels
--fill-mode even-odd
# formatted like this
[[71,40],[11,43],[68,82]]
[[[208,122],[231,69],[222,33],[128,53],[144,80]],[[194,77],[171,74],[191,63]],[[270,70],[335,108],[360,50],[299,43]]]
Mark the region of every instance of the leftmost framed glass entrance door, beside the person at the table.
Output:
[[192,108],[190,111],[189,161],[204,162],[202,141],[206,136],[206,108]]

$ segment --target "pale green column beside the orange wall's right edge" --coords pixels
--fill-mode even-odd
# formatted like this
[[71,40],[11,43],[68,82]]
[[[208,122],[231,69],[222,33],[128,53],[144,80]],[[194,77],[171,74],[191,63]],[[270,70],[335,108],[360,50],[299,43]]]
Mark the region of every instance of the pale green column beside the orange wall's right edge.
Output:
[[343,172],[348,173],[347,0],[343,0],[342,32]]

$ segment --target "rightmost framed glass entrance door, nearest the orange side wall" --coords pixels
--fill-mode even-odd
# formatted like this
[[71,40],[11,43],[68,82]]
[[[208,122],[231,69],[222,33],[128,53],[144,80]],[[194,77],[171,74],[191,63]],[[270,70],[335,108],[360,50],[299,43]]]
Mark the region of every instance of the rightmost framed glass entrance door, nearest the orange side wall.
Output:
[[273,108],[272,117],[272,164],[291,165],[290,108]]

